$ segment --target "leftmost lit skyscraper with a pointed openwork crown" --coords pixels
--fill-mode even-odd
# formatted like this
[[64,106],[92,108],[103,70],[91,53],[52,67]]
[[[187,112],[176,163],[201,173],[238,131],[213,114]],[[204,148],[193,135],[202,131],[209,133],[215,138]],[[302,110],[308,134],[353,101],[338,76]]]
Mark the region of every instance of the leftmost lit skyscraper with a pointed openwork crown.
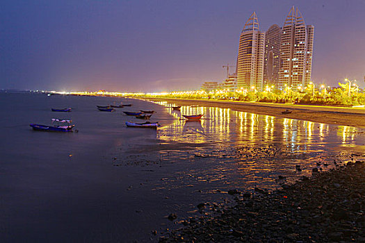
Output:
[[237,87],[262,90],[265,33],[259,31],[259,21],[253,12],[240,35],[237,58]]

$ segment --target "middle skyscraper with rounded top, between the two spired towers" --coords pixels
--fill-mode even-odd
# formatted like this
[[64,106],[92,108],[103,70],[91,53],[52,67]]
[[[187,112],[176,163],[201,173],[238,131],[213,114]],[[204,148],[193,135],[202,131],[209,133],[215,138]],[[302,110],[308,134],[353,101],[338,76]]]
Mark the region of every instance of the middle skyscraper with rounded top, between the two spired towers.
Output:
[[275,85],[279,82],[280,47],[282,29],[274,24],[265,33],[265,56],[263,60],[263,85]]

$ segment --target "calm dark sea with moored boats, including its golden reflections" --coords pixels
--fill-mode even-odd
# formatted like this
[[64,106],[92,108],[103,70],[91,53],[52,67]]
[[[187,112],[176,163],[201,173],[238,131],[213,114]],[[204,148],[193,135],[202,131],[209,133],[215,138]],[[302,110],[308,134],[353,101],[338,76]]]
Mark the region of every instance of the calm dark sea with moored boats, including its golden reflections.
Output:
[[[229,108],[179,112],[168,108],[174,103],[44,94],[3,93],[0,101],[1,242],[156,242],[199,217],[198,203],[224,202],[229,189],[274,190],[278,175],[295,181],[364,153],[362,129]],[[120,102],[133,106],[96,108]],[[127,128],[143,120],[123,110],[155,110],[151,121],[162,126]],[[181,118],[200,113],[202,121]],[[72,119],[79,133],[29,126],[51,118]],[[172,212],[176,221],[166,218]]]

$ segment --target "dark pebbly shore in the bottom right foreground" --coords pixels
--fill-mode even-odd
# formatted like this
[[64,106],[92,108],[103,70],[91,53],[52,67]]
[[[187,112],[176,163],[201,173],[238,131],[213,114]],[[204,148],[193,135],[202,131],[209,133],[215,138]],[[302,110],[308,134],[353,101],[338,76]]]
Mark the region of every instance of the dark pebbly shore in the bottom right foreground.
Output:
[[186,220],[160,242],[364,242],[364,169],[348,162],[273,193],[232,192],[236,205],[198,205],[215,215]]

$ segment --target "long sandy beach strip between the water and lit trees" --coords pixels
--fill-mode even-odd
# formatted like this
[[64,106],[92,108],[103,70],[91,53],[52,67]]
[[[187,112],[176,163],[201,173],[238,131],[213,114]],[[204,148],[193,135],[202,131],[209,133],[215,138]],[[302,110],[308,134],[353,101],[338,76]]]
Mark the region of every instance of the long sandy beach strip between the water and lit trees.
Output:
[[[141,97],[142,98],[142,97]],[[243,101],[207,101],[201,99],[146,98],[151,101],[168,101],[178,105],[200,105],[218,108],[231,108],[242,112],[270,115],[289,119],[300,119],[323,124],[354,126],[365,128],[364,108],[345,108],[335,106],[309,106],[292,103],[254,103]],[[291,114],[282,114],[283,110],[293,110]]]

